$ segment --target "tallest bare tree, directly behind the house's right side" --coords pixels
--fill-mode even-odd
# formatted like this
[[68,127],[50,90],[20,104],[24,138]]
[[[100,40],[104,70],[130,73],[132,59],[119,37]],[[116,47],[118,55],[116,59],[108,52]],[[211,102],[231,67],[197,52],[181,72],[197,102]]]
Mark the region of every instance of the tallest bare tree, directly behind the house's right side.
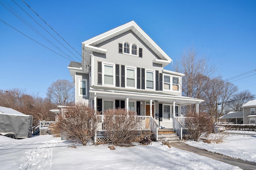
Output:
[[[208,78],[215,72],[213,65],[207,63],[204,57],[199,58],[194,47],[184,51],[181,60],[175,67],[177,72],[182,72],[182,95],[191,98],[204,98],[203,88],[208,83]],[[186,107],[186,114],[194,113],[194,105]]]

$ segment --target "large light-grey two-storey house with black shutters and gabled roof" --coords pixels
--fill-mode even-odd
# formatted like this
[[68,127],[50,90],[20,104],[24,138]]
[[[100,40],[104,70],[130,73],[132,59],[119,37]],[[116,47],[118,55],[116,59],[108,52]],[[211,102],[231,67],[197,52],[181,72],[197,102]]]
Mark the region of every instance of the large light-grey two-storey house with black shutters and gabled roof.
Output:
[[104,110],[124,108],[173,128],[181,106],[203,100],[182,96],[184,74],[165,70],[172,59],[134,22],[82,42],[82,63],[70,62],[76,102]]

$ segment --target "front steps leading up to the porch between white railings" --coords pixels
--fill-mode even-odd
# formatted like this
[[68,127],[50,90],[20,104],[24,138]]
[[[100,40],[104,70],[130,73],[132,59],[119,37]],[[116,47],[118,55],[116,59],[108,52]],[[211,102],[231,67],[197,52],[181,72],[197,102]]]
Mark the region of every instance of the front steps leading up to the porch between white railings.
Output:
[[159,129],[158,130],[158,141],[169,143],[180,143],[180,138],[176,135],[172,129]]

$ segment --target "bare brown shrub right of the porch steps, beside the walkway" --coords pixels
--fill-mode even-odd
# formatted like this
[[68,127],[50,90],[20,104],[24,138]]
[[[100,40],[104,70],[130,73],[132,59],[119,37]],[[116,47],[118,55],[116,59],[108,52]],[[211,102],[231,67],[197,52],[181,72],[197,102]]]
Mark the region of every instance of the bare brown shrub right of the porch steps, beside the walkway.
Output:
[[189,137],[198,141],[201,135],[207,135],[212,131],[211,117],[207,113],[190,114],[186,120]]

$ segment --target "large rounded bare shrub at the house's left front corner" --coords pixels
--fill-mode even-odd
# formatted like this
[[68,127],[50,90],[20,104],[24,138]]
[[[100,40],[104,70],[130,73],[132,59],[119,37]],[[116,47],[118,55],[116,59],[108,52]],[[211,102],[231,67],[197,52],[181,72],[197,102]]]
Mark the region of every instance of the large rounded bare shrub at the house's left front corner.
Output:
[[94,136],[96,121],[94,109],[83,103],[77,103],[62,111],[58,127],[65,136],[79,140],[86,145]]

